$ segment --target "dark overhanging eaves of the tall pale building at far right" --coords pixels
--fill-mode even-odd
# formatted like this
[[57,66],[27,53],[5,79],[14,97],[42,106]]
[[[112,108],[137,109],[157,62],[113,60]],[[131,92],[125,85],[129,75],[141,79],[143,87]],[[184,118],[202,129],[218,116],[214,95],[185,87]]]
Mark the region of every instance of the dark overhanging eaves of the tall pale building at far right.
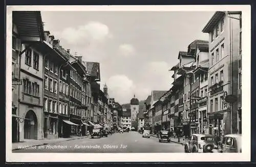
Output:
[[214,15],[210,18],[207,24],[204,26],[202,32],[209,33],[211,32],[215,25],[219,22],[219,20],[225,15],[225,12],[217,11]]

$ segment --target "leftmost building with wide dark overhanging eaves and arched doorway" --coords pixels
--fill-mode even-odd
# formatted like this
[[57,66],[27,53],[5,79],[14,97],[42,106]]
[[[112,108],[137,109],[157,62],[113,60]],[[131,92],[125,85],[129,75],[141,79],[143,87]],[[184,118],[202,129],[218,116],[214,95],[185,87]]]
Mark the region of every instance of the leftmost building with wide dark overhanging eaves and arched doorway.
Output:
[[13,12],[12,141],[14,142],[24,139],[38,140],[43,137],[41,119],[44,53],[38,49],[38,46],[41,46],[44,40],[40,12]]

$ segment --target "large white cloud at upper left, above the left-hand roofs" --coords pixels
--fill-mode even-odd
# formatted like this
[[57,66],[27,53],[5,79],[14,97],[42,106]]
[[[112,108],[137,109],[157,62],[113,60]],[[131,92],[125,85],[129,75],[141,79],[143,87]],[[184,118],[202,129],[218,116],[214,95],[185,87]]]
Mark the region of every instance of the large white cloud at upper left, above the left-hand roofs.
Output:
[[60,36],[73,45],[90,45],[113,37],[109,27],[97,21],[90,21],[79,27],[67,27],[60,33]]

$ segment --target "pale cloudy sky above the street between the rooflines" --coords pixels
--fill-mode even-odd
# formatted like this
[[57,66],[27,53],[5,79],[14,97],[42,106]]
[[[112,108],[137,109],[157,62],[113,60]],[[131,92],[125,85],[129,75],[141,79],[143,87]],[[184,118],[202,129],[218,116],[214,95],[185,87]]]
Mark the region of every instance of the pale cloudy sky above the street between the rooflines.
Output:
[[170,68],[214,12],[41,11],[44,30],[83,61],[100,63],[100,89],[120,104],[172,86]]

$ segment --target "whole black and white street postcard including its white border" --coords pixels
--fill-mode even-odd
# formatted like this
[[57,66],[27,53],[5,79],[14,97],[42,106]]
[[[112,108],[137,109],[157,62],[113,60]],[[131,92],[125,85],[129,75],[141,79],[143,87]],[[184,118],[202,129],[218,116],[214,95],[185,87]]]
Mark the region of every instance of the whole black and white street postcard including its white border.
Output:
[[162,8],[7,7],[7,160],[249,160],[250,6]]

